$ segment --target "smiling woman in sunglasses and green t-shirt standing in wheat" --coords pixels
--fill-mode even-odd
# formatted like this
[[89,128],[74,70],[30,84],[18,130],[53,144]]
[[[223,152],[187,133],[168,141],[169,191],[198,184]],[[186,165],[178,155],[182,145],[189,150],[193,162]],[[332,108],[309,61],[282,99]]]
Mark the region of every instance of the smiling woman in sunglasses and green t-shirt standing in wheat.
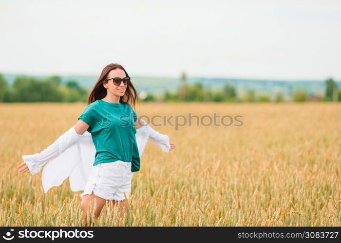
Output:
[[[130,192],[133,172],[140,169],[140,156],[134,135],[135,125],[139,125],[137,115],[130,105],[134,106],[135,100],[136,90],[126,70],[118,64],[107,65],[102,70],[89,96],[88,106],[78,117],[76,125],[60,136],[56,144],[53,144],[55,146],[51,146],[49,152],[58,156],[77,141],[78,135],[85,131],[92,135],[96,149],[95,162],[81,194],[85,222],[87,210],[94,206],[95,201],[96,217],[106,201],[114,205],[121,202],[119,205],[128,211],[125,194]],[[170,143],[170,147],[175,146]],[[31,171],[29,164],[32,161],[34,157],[26,157],[24,165],[18,166],[21,168],[20,172]],[[31,167],[35,169],[34,166]]]

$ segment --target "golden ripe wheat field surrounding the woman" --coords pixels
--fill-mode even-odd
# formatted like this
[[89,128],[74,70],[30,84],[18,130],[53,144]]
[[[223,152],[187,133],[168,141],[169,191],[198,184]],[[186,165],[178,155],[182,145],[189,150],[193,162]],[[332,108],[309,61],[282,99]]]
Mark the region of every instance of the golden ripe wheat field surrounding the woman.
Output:
[[[80,225],[82,191],[66,180],[44,194],[41,172],[17,166],[76,124],[85,107],[0,104],[0,226]],[[136,106],[139,116],[189,112],[240,115],[243,125],[151,125],[176,148],[164,153],[149,142],[129,214],[121,220],[116,208],[92,226],[341,226],[341,104]]]

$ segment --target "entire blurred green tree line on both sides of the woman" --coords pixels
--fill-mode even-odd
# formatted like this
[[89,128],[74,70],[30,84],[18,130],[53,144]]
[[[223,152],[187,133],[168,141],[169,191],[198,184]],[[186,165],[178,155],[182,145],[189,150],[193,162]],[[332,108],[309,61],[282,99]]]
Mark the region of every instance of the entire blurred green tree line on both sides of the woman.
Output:
[[[145,95],[143,102],[161,100],[163,102],[306,102],[306,101],[341,101],[341,88],[329,78],[325,81],[324,96],[310,95],[304,89],[297,89],[289,100],[281,92],[271,96],[268,94],[256,94],[254,90],[248,90],[243,95],[238,95],[236,88],[226,84],[219,90],[204,88],[201,83],[185,85],[183,95],[180,89],[175,92],[165,91],[163,96],[155,97],[152,93]],[[69,80],[65,84],[58,76],[51,76],[38,80],[27,76],[17,76],[9,86],[0,74],[0,102],[87,102],[89,91],[80,87],[76,81]],[[285,99],[284,99],[285,98]]]

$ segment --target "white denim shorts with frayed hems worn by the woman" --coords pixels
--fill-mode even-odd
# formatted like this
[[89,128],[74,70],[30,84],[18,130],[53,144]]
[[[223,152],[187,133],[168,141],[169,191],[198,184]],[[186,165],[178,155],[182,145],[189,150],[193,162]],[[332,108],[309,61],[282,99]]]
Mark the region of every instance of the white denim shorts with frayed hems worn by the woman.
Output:
[[128,199],[132,188],[133,174],[132,162],[117,160],[95,165],[89,175],[84,192],[80,196],[91,195],[94,191],[94,194],[100,198],[121,201],[125,200],[125,192]]

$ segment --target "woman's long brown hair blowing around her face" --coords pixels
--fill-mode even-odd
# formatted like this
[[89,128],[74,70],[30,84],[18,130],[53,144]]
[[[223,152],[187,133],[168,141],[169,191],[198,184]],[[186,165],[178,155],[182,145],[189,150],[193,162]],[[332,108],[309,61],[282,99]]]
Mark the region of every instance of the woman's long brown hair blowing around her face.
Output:
[[[108,73],[113,69],[122,69],[126,73],[126,77],[129,77],[126,69],[124,69],[121,65],[117,63],[111,63],[105,66],[105,68],[102,70],[101,74],[99,75],[99,78],[93,87],[89,99],[88,104],[91,104],[95,102],[96,100],[101,100],[107,95],[107,89],[103,86],[103,83],[107,83],[106,81]],[[123,96],[119,98],[119,102],[123,104],[130,104],[133,109],[135,109],[135,101],[137,98],[137,91],[133,85],[132,82],[129,82],[127,84],[126,92]]]

